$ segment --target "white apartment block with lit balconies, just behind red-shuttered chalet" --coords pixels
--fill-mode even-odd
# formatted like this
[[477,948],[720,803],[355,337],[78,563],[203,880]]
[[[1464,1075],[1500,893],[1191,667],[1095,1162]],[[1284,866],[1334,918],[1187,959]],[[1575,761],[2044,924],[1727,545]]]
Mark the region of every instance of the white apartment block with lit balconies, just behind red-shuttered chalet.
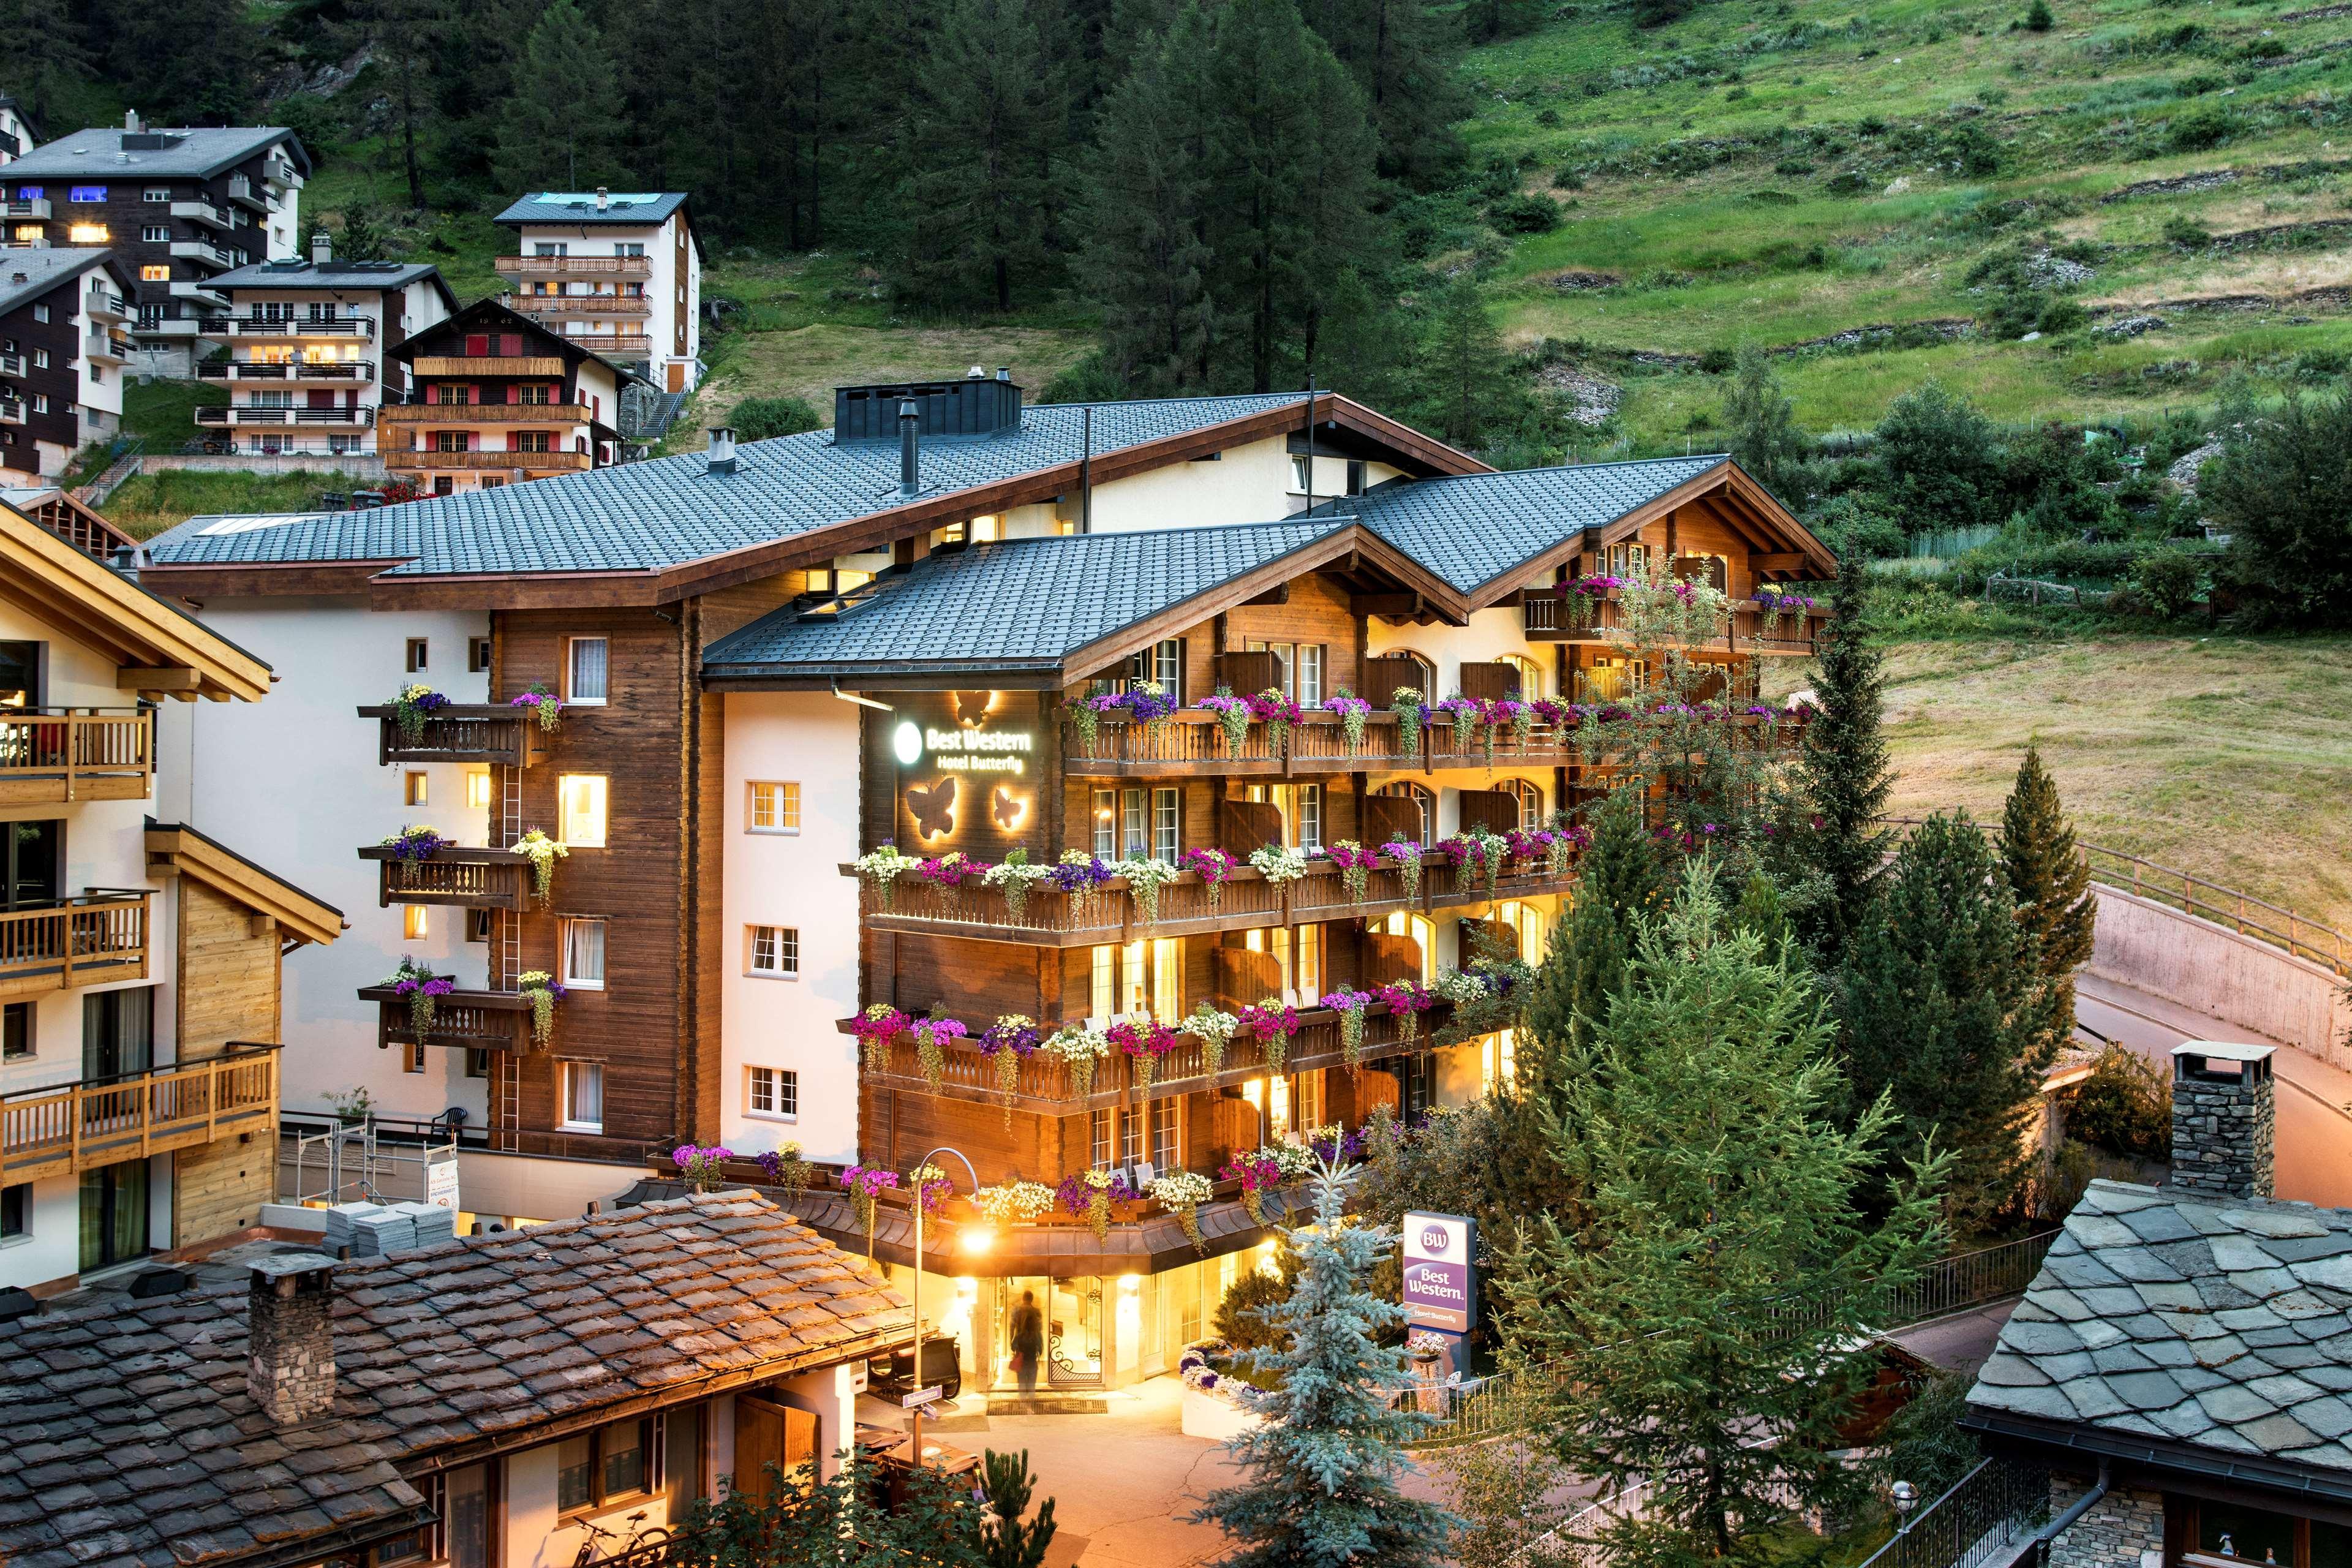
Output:
[[405,261],[336,261],[310,237],[308,259],[261,261],[221,273],[228,313],[200,322],[202,381],[228,386],[228,404],[195,409],[200,430],[235,451],[376,451],[379,409],[407,397],[395,353],[449,320],[456,296],[440,268]]

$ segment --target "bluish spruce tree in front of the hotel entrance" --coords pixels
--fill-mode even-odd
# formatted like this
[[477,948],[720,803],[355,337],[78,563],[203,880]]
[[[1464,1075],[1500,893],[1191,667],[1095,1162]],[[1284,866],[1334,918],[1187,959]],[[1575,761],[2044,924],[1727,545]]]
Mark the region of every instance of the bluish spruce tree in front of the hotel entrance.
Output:
[[1404,1307],[1367,1288],[1395,1234],[1348,1220],[1348,1173],[1315,1178],[1315,1222],[1289,1232],[1298,1281],[1279,1307],[1261,1307],[1282,1349],[1254,1349],[1279,1385],[1258,1396],[1265,1422],[1225,1443],[1242,1481],[1218,1490],[1188,1523],[1216,1523],[1235,1542],[1225,1568],[1435,1568],[1454,1519],[1397,1488],[1404,1443],[1428,1418],[1390,1408],[1411,1387],[1404,1352],[1381,1333]]

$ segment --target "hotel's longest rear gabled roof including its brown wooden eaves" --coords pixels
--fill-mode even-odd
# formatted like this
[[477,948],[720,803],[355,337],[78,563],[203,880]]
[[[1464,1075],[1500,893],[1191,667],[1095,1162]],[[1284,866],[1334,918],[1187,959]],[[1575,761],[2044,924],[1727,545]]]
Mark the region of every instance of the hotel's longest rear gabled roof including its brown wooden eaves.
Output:
[[[1303,421],[1305,397],[1091,404],[1094,482],[1282,435]],[[694,451],[365,512],[191,517],[151,550],[155,578],[179,574],[193,595],[358,590],[379,607],[659,604],[1075,491],[1087,409],[1040,404],[1023,409],[1016,430],[927,442],[913,501],[898,496],[894,442],[835,442],[830,430],[811,430],[739,447],[734,473],[710,473],[706,454]],[[1397,461],[1421,473],[1479,468],[1345,397],[1317,395],[1315,418],[1390,442]],[[318,564],[350,571],[329,578],[310,571]],[[275,588],[273,567],[303,571],[275,574],[289,583]],[[532,583],[489,588],[477,578]]]

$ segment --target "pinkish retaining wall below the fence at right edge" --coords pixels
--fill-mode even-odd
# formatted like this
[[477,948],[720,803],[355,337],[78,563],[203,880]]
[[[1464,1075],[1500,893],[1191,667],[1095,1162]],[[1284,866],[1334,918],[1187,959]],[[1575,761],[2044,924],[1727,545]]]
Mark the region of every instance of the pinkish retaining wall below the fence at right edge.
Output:
[[2098,938],[2091,973],[2211,1013],[2352,1070],[2352,1001],[2340,976],[2230,926],[2093,884]]

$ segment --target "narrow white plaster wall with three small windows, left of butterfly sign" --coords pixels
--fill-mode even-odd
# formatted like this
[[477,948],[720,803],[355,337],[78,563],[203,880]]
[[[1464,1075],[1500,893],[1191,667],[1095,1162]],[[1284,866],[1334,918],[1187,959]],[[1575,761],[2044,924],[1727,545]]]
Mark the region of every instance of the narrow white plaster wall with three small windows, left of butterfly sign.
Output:
[[[727,811],[720,933],[720,1128],[739,1154],[797,1140],[809,1159],[856,1159],[858,893],[840,875],[858,856],[858,708],[826,691],[727,693]],[[746,832],[750,780],[800,785],[800,832]],[[746,973],[746,926],[795,926],[800,978]],[[746,1067],[800,1074],[795,1121],[746,1112]]]

